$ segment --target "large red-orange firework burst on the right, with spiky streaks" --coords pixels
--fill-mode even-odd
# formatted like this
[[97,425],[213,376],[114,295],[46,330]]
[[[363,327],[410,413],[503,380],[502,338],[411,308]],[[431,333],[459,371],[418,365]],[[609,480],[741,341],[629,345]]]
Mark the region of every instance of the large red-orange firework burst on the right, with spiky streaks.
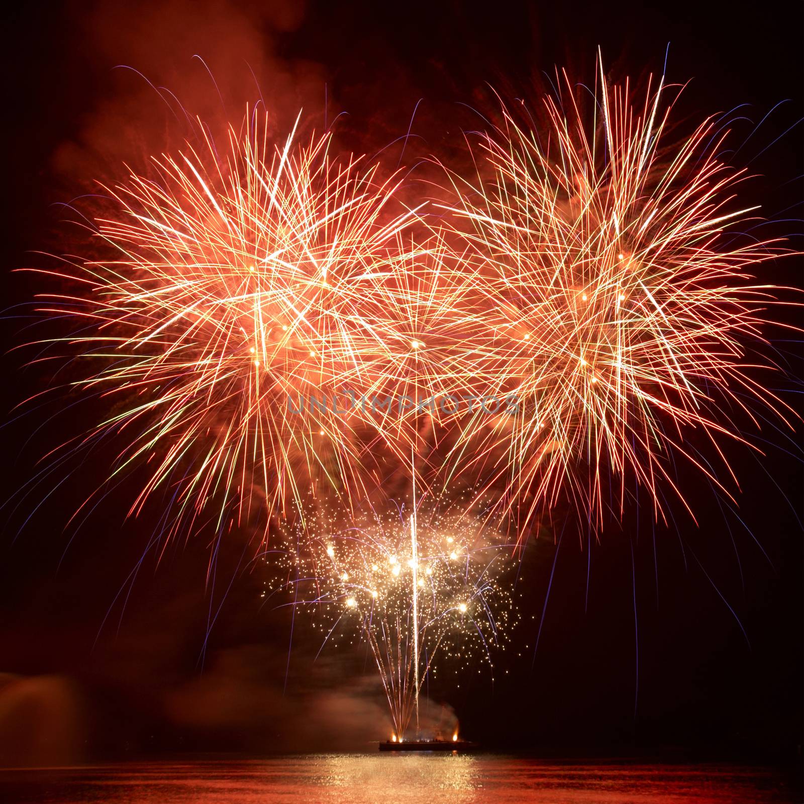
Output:
[[726,133],[709,118],[660,150],[672,106],[663,80],[635,107],[627,82],[599,78],[591,125],[566,75],[565,96],[544,100],[544,129],[503,106],[480,136],[477,182],[449,174],[457,200],[439,205],[474,266],[461,295],[480,311],[476,393],[515,393],[527,410],[502,427],[478,416],[453,448],[454,472],[475,466],[486,487],[503,482],[506,511],[529,500],[520,524],[567,494],[601,526],[609,476],[620,511],[635,477],[662,517],[662,486],[687,506],[675,456],[728,494],[691,431],[733,478],[718,442],[748,441],[724,412],[758,426],[753,403],[790,411],[754,377],[773,366],[746,356],[746,342],[765,343],[779,289],[745,269],[783,249],[724,236],[756,209],[734,200],[745,171],[717,158]]

